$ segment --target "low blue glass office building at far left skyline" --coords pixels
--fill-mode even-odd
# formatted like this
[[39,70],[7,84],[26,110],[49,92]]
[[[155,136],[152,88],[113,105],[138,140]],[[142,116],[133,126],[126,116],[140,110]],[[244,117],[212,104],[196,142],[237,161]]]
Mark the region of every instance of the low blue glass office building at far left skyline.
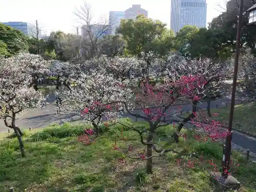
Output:
[[[8,25],[14,29],[17,29],[19,31],[22,31],[25,35],[36,37],[36,27],[32,24],[29,24],[27,22],[7,22],[2,23],[4,25]],[[38,31],[38,37],[41,36],[41,31]]]

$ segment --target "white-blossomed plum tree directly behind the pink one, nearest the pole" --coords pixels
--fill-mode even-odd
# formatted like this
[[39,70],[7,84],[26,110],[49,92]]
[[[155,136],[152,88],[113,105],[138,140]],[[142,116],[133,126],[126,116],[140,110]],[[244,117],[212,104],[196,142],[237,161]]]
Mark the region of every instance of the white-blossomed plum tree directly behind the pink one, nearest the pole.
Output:
[[[199,99],[193,100],[192,97],[188,97],[188,99],[192,99],[193,110],[188,117],[183,119],[184,122],[195,118],[195,113],[198,108],[197,104],[201,99],[206,99],[207,113],[208,116],[211,117],[211,97],[219,94],[221,83],[231,76],[231,70],[226,62],[216,62],[209,58],[186,60],[177,53],[171,54],[168,57],[165,70],[167,71],[168,77],[174,82],[181,79],[183,75],[198,75],[205,81],[202,87],[195,87],[194,94],[197,95]],[[182,123],[178,126],[178,132],[180,132],[182,126]],[[176,141],[178,141],[177,135],[174,135],[174,137]]]

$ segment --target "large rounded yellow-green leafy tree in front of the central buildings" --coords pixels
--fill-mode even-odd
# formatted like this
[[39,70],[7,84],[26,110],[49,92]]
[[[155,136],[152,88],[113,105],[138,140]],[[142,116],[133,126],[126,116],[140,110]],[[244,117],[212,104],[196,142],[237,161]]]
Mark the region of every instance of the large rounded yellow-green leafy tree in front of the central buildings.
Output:
[[152,59],[166,55],[174,45],[174,33],[166,28],[166,24],[143,15],[138,15],[136,20],[121,20],[116,32],[122,34],[126,42],[126,54],[145,60],[147,79]]

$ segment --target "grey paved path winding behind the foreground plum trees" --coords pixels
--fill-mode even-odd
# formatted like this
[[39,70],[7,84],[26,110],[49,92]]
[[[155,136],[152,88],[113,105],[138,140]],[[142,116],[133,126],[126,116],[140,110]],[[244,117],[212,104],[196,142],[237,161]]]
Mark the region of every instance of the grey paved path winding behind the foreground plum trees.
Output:
[[[23,114],[23,116],[17,120],[17,125],[19,127],[31,127],[31,129],[40,128],[40,127],[46,127],[50,124],[62,124],[65,122],[65,119],[71,118],[70,115],[67,114],[60,114],[56,115],[56,109],[55,105],[52,103],[54,102],[55,96],[51,96],[49,99],[50,104],[46,106],[45,109],[36,109],[33,111],[29,111]],[[239,103],[242,98],[237,98],[237,102]],[[247,99],[247,98],[244,98]],[[222,99],[211,101],[211,107],[215,108],[218,104],[219,106],[225,105],[225,103],[230,103],[230,97],[225,96]],[[207,106],[206,102],[203,102],[199,104],[200,108],[205,109]],[[182,106],[183,108],[186,106]],[[172,113],[176,112],[177,109],[179,109],[180,106],[174,106],[170,110],[166,112],[166,116],[170,116]],[[192,106],[188,105],[187,110],[191,111]],[[153,112],[156,112],[156,110],[153,110]],[[186,111],[186,109],[185,109]],[[142,110],[135,110],[134,112],[143,114]],[[132,120],[135,120],[134,117],[131,117],[130,115],[123,114],[124,117],[130,117]],[[141,120],[141,119],[138,119]],[[171,117],[169,118],[171,120]],[[5,126],[4,121],[0,119],[0,133],[7,133],[8,128]],[[250,150],[253,153],[256,153],[256,140],[253,140],[251,138],[247,138],[243,134],[234,133],[233,134],[233,143],[242,146],[243,148],[246,148]]]

